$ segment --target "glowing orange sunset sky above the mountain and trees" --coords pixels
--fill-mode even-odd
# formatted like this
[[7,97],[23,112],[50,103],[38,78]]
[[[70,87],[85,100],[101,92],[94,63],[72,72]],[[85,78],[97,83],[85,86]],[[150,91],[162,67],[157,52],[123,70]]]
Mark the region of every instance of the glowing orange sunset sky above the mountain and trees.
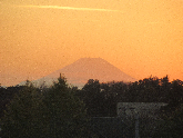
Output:
[[0,0],[0,83],[84,57],[136,78],[183,80],[183,0]]

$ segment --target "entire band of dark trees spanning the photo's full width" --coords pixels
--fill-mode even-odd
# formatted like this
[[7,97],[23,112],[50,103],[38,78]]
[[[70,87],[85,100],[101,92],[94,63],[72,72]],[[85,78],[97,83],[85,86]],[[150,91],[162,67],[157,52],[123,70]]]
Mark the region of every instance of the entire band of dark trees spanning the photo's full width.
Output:
[[[116,117],[118,102],[166,102],[161,125],[169,124],[170,129],[177,122],[180,125],[177,120],[183,120],[182,116],[180,119],[183,81],[169,81],[167,76],[128,83],[89,79],[82,89],[69,87],[67,79],[60,77],[50,88],[35,88],[29,81],[26,86],[0,87],[0,125],[4,138],[98,137],[88,129],[88,120],[91,117]],[[167,128],[162,131],[166,134]]]

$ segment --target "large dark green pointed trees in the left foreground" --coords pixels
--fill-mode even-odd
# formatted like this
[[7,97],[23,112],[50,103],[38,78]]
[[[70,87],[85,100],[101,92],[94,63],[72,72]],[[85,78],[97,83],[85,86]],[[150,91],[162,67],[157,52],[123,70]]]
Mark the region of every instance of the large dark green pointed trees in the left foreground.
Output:
[[8,106],[1,122],[3,138],[84,137],[85,107],[61,77],[42,92],[27,83]]

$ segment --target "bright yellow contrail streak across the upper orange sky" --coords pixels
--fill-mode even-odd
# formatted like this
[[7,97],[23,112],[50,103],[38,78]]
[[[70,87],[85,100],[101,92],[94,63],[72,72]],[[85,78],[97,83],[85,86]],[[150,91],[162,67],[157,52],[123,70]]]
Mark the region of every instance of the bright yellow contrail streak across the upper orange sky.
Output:
[[60,6],[14,6],[22,8],[42,8],[42,9],[61,9],[61,10],[80,10],[80,11],[105,11],[105,12],[119,12],[119,10],[111,9],[95,9],[95,8],[75,8],[75,7],[60,7]]

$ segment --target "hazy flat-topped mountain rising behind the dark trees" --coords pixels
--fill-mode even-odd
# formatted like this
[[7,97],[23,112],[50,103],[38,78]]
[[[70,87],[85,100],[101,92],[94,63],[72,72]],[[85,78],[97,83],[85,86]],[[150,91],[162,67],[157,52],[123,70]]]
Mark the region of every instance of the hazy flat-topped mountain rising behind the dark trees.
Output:
[[136,79],[122,72],[120,69],[109,63],[101,58],[81,58],[75,62],[57,70],[41,79],[33,80],[35,86],[44,82],[45,86],[51,86],[53,80],[57,80],[62,73],[69,83],[82,88],[89,79],[98,79],[100,82],[124,81],[133,82]]

